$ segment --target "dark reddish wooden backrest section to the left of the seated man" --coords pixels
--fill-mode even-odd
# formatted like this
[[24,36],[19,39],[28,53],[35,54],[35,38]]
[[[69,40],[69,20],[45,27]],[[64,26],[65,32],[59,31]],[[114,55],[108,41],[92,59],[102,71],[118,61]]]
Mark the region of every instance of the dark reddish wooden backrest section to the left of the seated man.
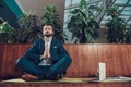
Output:
[[12,78],[21,75],[16,60],[24,54],[28,45],[0,45],[0,78]]

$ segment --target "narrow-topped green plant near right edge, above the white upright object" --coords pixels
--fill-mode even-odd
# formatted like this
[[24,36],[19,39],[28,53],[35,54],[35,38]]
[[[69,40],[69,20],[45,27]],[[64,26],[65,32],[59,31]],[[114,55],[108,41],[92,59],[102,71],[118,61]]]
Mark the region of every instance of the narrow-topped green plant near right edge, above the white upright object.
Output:
[[128,29],[126,29],[124,20],[119,17],[119,10],[117,5],[108,8],[108,16],[110,18],[106,22],[106,41],[109,44],[124,44],[127,39]]

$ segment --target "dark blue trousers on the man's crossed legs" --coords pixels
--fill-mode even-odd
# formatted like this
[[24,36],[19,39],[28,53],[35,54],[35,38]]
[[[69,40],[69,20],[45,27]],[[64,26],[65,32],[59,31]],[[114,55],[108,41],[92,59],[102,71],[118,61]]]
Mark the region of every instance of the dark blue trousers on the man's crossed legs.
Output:
[[31,61],[27,58],[20,58],[16,64],[25,72],[34,74],[39,78],[49,77],[53,74],[66,72],[72,60],[69,55],[62,57],[58,62],[52,65],[40,66],[34,61]]

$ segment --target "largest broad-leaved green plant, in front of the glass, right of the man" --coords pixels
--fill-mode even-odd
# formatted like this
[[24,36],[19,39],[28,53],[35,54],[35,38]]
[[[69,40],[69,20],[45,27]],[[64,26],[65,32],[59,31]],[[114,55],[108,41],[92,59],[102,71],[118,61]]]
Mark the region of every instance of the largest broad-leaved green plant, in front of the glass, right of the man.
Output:
[[71,11],[68,29],[72,33],[72,40],[75,39],[74,44],[95,42],[98,37],[99,25],[95,21],[93,10],[99,10],[99,8],[87,5],[85,0],[81,0],[80,7]]

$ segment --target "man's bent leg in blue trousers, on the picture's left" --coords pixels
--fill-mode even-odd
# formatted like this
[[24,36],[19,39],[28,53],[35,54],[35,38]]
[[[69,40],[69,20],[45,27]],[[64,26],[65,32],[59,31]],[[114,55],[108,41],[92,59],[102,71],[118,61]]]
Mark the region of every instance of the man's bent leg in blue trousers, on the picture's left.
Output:
[[16,62],[16,64],[25,72],[29,74],[34,74],[38,76],[39,79],[43,79],[45,77],[45,72],[44,67],[41,69],[38,66],[35,62],[28,60],[27,58],[20,58]]

